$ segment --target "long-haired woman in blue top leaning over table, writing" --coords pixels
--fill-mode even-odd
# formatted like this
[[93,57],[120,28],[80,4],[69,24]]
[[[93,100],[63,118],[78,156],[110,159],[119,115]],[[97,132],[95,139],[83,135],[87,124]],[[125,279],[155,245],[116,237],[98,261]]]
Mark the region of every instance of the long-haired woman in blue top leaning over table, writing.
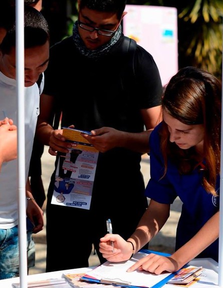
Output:
[[221,82],[195,67],[179,70],[166,86],[162,116],[149,139],[149,207],[127,241],[106,234],[100,252],[109,261],[129,259],[162,228],[179,196],[183,205],[175,252],[148,254],[129,271],[173,272],[194,257],[218,261]]

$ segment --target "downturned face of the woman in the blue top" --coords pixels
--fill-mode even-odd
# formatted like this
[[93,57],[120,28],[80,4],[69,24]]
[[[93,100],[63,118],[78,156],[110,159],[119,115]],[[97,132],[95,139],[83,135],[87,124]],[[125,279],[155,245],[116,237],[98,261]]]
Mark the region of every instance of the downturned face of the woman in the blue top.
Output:
[[203,124],[186,125],[170,116],[163,110],[163,121],[169,130],[169,141],[175,142],[181,149],[195,146],[197,151],[203,150],[204,127]]

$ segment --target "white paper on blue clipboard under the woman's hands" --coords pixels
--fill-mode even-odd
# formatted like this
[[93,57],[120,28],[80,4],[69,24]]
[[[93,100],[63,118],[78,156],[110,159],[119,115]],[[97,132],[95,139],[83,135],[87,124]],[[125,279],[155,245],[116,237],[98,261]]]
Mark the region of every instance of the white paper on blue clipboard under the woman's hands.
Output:
[[[155,251],[148,251],[157,253]],[[162,254],[162,253],[159,253]],[[171,277],[173,273],[162,273],[156,275],[147,271],[127,272],[126,270],[137,262],[142,257],[148,255],[148,253],[138,252],[131,257],[131,259],[123,262],[105,262],[104,264],[96,267],[92,271],[88,272],[82,279],[90,280],[101,283],[116,284],[122,286],[140,286],[147,288],[158,288],[164,285]]]

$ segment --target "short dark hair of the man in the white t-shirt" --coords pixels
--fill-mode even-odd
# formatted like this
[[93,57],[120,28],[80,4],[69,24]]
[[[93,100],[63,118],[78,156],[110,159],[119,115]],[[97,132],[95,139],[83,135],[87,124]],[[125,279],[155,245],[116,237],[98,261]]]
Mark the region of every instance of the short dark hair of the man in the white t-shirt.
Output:
[[[42,46],[50,41],[49,27],[43,14],[30,6],[24,7],[25,49]],[[3,54],[9,54],[16,46],[16,24],[9,30],[0,46]]]

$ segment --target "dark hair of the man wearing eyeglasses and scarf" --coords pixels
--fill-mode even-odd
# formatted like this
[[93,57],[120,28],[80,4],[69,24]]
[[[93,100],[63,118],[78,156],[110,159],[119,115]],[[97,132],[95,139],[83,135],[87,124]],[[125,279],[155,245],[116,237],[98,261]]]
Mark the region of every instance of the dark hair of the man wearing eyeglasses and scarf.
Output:
[[80,0],[80,10],[87,7],[100,12],[114,12],[120,20],[125,10],[126,0]]

